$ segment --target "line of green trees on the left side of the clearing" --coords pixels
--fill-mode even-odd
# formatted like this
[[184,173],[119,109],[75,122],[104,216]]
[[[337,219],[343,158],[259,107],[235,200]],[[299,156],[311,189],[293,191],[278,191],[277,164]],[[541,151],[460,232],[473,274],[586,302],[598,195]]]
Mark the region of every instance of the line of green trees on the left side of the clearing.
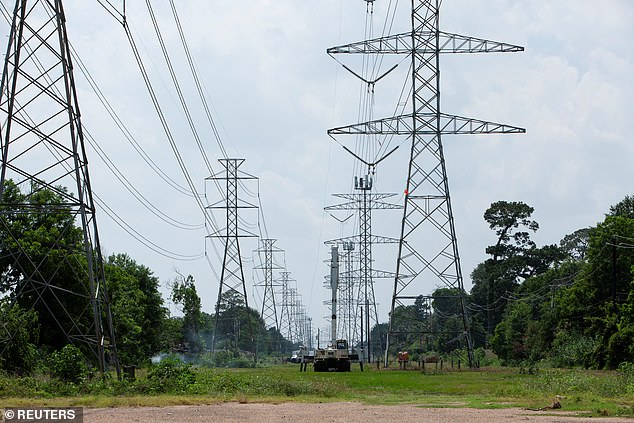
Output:
[[[75,292],[85,284],[85,272],[75,268],[87,266],[81,227],[72,221],[69,209],[59,207],[63,204],[60,194],[47,189],[38,188],[26,195],[7,180],[2,204],[0,370],[31,373],[47,366],[71,343],[90,361],[88,346],[68,339],[62,328],[62,324],[72,324],[89,333],[93,317],[86,313],[86,304],[80,304],[86,299],[59,295],[48,301],[37,296],[55,295],[52,291],[42,294],[44,291],[21,289],[26,275],[34,271],[59,292]],[[20,212],[12,204],[27,204],[38,212]],[[72,259],[67,259],[69,256]],[[258,354],[281,355],[294,348],[277,330],[267,328],[256,310],[230,298],[231,292],[225,294],[220,310],[203,312],[191,275],[178,275],[169,282],[170,300],[181,312],[170,316],[159,291],[160,281],[151,269],[125,253],[110,255],[103,267],[122,365],[144,365],[161,352],[201,354],[212,347],[222,353],[219,356],[225,364],[244,359],[247,352],[244,364],[252,363]],[[112,354],[112,346],[108,347]]]

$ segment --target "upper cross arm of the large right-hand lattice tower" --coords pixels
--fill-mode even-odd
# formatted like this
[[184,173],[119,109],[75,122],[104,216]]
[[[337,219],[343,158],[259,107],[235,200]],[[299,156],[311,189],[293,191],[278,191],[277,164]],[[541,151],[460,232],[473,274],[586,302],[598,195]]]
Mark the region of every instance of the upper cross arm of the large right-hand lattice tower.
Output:
[[[438,47],[436,47],[438,36]],[[416,31],[359,41],[326,50],[328,54],[513,53],[524,47],[443,31]]]

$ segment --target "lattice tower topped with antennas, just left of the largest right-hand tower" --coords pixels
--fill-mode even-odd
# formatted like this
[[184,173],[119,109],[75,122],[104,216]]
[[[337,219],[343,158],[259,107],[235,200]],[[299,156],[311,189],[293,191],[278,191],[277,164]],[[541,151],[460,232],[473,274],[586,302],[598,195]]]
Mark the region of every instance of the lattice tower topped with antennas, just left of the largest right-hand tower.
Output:
[[[361,178],[355,178],[355,190],[359,191],[358,194],[334,194],[335,197],[349,200],[347,203],[338,204],[335,206],[328,206],[326,211],[336,210],[355,210],[359,213],[359,235],[357,237],[348,237],[337,240],[327,241],[327,245],[339,245],[344,247],[346,244],[353,243],[359,246],[358,260],[359,268],[356,280],[358,281],[356,288],[357,294],[352,301],[356,301],[354,318],[354,330],[351,339],[360,340],[361,348],[363,349],[363,356],[366,362],[370,362],[373,358],[372,355],[372,328],[379,323],[376,298],[374,295],[374,278],[377,277],[394,277],[392,273],[379,272],[372,269],[372,244],[377,243],[397,243],[397,239],[380,237],[372,235],[372,210],[389,210],[389,209],[401,209],[402,206],[397,204],[387,203],[383,200],[394,197],[396,194],[381,194],[372,193],[372,177],[365,175]],[[348,251],[352,249],[348,246]],[[346,249],[344,248],[344,251]],[[344,262],[345,263],[345,262]],[[342,278],[344,281],[350,282],[350,279],[354,280],[353,275],[345,275]],[[352,306],[352,301],[348,300],[346,292],[350,289],[350,283],[343,283],[339,285],[339,291],[342,298],[346,299],[342,301],[342,306]],[[350,314],[349,310],[338,311],[341,315],[346,316]]]

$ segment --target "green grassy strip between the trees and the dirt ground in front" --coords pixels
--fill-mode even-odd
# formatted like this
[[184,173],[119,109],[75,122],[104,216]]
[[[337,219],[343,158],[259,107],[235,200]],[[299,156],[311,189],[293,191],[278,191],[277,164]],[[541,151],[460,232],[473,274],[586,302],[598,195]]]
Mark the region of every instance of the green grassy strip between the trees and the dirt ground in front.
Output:
[[[195,376],[191,378],[191,374]],[[142,406],[241,402],[356,401],[429,407],[530,407],[557,400],[567,411],[634,416],[634,377],[621,372],[513,368],[478,370],[377,370],[299,372],[296,365],[256,369],[188,368],[169,379],[137,372],[136,381],[93,380],[62,384],[45,378],[0,376],[6,406]]]

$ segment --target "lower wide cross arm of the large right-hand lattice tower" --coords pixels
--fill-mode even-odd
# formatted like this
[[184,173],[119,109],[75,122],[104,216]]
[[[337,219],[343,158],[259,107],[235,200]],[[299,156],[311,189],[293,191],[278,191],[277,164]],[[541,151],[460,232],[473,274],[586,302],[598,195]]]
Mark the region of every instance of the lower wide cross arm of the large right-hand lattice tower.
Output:
[[329,135],[523,134],[525,132],[526,129],[516,126],[446,113],[406,114],[328,130]]

